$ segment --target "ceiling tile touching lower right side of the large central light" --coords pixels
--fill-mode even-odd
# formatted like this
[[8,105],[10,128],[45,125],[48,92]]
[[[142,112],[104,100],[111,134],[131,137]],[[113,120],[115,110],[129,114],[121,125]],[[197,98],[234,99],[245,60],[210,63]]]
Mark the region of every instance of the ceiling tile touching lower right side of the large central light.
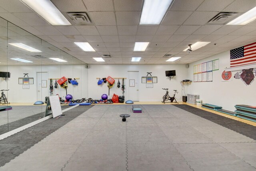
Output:
[[192,13],[192,11],[168,11],[161,24],[182,25]]

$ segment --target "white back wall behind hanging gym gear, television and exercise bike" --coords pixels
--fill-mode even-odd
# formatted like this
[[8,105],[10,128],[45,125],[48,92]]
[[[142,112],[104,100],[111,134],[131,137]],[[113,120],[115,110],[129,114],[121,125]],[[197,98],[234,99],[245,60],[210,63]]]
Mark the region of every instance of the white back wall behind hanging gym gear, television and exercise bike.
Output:
[[[169,80],[166,79],[165,71],[166,70],[176,70],[176,76]],[[92,99],[100,99],[101,95],[106,93],[108,94],[107,84],[103,83],[102,85],[97,85],[98,80],[96,78],[112,77],[112,78],[127,78],[128,71],[138,71],[139,72],[139,97],[140,101],[162,101],[162,97],[165,94],[165,91],[162,88],[169,88],[170,95],[173,94],[173,89],[179,91],[177,97],[181,97],[182,86],[180,81],[187,78],[187,68],[184,64],[165,64],[165,65],[90,65],[88,69],[88,97]],[[141,83],[141,77],[147,76],[147,72],[152,72],[152,76],[156,76],[158,83],[154,84],[153,88],[146,88],[146,84]],[[117,82],[110,89],[110,97],[115,93],[117,95],[122,95],[121,87],[118,89]],[[129,81],[125,80],[125,100],[128,93]],[[122,80],[120,80],[122,85]],[[178,101],[182,101],[182,98]]]

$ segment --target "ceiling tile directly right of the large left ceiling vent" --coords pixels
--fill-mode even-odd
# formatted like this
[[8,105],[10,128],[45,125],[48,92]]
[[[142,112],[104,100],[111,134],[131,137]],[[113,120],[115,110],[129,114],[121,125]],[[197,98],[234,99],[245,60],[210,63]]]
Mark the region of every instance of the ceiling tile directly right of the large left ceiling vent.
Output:
[[116,25],[114,12],[90,12],[90,16],[96,26]]

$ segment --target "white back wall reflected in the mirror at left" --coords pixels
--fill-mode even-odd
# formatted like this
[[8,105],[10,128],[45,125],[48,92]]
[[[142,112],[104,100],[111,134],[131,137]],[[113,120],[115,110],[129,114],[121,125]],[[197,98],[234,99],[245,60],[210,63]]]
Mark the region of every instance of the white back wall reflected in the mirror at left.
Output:
[[[6,71],[6,66],[0,66],[0,71]],[[73,95],[74,99],[81,99],[88,96],[88,69],[85,65],[49,65],[49,66],[8,66],[8,72],[11,73],[11,78],[8,82],[0,80],[2,89],[10,89],[8,91],[8,101],[12,103],[34,103],[37,101],[36,89],[36,72],[48,72],[48,78],[80,78],[78,85],[68,84],[67,92]],[[30,84],[30,89],[22,89],[22,85],[18,84],[18,78],[24,76],[23,73],[28,73],[30,78],[34,78],[34,84]],[[53,80],[54,85],[55,80]],[[47,80],[47,87],[43,89],[49,90],[50,80]],[[59,94],[60,97],[66,96],[66,90],[58,85],[57,89],[53,89],[53,95]],[[44,98],[44,97],[43,97]]]

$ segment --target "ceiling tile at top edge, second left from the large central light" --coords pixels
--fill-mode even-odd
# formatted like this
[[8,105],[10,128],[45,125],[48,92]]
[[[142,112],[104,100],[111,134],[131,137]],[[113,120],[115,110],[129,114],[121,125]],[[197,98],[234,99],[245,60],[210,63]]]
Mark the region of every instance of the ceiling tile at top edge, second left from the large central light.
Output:
[[83,0],[88,11],[113,11],[112,0]]

